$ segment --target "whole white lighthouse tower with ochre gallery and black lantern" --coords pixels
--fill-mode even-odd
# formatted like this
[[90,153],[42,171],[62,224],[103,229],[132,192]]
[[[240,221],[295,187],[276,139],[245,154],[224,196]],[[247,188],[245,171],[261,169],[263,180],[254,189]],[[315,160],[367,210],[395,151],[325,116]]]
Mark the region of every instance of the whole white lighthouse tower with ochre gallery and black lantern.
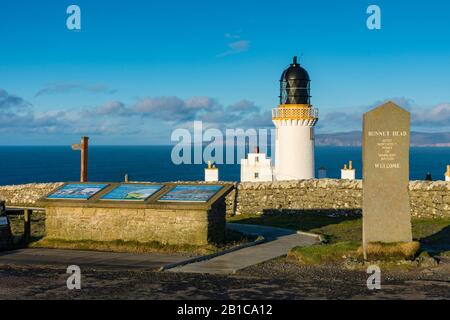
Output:
[[314,172],[314,126],[319,110],[310,104],[310,79],[294,57],[280,80],[280,105],[272,110],[276,127],[275,178],[312,179]]

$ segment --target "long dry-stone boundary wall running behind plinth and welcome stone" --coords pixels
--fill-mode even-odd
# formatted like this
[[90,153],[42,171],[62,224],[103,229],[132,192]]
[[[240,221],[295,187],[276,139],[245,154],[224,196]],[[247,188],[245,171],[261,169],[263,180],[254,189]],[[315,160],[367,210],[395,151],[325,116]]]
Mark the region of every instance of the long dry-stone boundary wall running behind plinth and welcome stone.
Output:
[[[34,205],[35,201],[60,186],[28,184],[0,186],[0,200],[8,205]],[[331,214],[360,214],[361,180],[301,180],[293,182],[236,183],[226,198],[227,214],[263,212],[325,211]],[[413,217],[450,217],[450,182],[411,181]]]

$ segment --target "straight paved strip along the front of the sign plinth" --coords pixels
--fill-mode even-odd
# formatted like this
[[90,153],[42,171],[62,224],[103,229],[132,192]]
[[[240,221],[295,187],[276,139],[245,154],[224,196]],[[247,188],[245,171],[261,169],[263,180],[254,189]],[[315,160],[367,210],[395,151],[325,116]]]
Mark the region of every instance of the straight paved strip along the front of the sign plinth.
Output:
[[134,254],[82,250],[20,249],[0,253],[0,265],[21,266],[86,266],[107,269],[146,269],[186,260],[177,254]]

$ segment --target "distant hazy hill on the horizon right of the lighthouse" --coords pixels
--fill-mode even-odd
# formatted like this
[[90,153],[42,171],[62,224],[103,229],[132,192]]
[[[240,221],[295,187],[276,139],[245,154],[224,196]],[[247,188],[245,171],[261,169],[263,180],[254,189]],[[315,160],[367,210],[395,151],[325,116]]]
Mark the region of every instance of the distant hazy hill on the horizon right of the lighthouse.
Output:
[[[316,135],[318,146],[361,146],[361,131],[323,133]],[[411,132],[411,146],[450,147],[450,132]]]

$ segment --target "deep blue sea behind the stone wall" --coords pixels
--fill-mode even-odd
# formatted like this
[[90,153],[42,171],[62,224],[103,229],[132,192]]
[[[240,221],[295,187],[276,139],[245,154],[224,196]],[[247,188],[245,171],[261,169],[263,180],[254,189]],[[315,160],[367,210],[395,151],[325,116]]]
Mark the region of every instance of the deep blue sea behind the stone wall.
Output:
[[[174,165],[171,146],[91,146],[89,180],[133,181],[203,180],[205,165]],[[340,177],[340,168],[353,160],[361,178],[360,147],[316,147],[316,169],[327,168],[330,178]],[[450,164],[450,148],[411,148],[411,180],[422,180],[427,172],[443,180]],[[240,166],[219,165],[220,179],[239,181]],[[0,185],[30,182],[78,181],[80,153],[70,147],[0,147]]]

